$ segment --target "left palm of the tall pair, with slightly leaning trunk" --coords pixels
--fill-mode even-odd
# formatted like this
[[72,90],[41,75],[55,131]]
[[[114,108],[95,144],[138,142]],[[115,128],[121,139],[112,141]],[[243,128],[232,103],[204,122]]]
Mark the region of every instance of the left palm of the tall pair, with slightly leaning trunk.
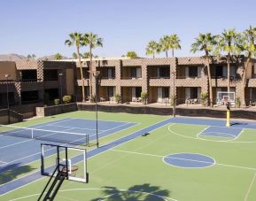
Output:
[[80,73],[81,73],[81,93],[82,93],[82,102],[85,101],[85,90],[84,90],[84,82],[83,82],[83,73],[82,73],[82,67],[81,67],[81,54],[80,54],[80,48],[84,44],[82,43],[82,35],[81,33],[74,32],[69,35],[69,39],[66,40],[65,44],[69,47],[75,45],[76,47],[76,56],[78,58],[78,63],[80,67]]

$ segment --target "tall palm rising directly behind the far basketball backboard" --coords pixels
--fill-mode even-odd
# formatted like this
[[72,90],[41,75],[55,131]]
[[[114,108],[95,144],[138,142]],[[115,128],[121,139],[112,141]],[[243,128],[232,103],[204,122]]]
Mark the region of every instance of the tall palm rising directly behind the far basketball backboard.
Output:
[[239,35],[236,33],[235,28],[225,30],[218,36],[218,45],[216,53],[220,54],[221,51],[227,52],[227,65],[228,65],[228,92],[230,90],[230,63],[233,55],[239,52],[238,45]]

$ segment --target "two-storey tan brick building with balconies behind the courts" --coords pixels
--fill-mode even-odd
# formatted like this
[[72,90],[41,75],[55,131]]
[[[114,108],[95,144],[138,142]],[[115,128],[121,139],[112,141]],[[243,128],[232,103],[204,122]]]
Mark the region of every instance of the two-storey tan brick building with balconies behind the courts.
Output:
[[[230,91],[242,97],[242,73],[245,58],[234,58],[230,66]],[[246,74],[246,104],[256,102],[256,69],[251,60]],[[95,96],[96,82],[92,78],[92,95],[89,93],[89,59],[82,60],[85,94]],[[92,62],[92,70],[100,72],[99,100],[113,100],[117,94],[121,102],[140,102],[141,92],[148,94],[148,103],[165,103],[175,93],[177,104],[188,99],[200,102],[200,94],[208,93],[205,59],[191,58],[98,58]],[[227,91],[227,62],[225,58],[213,58],[211,62],[213,102],[218,91]],[[6,81],[5,74],[9,74]],[[0,62],[0,106],[7,103],[6,83],[11,105],[53,104],[55,98],[71,95],[81,101],[81,73],[75,60],[37,61],[22,60]],[[175,88],[174,88],[175,86]]]

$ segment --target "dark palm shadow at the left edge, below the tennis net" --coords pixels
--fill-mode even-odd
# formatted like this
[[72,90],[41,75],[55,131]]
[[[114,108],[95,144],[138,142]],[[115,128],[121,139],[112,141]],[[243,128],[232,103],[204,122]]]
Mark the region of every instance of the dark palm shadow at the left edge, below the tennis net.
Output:
[[1,168],[2,173],[0,174],[0,185],[17,179],[19,174],[27,174],[35,170],[35,168],[31,166],[18,166],[19,163]]

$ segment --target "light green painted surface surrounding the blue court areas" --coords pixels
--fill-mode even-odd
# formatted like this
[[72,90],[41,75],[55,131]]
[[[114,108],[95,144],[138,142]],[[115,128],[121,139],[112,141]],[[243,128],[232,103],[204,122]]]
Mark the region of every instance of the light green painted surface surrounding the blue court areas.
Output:
[[[27,127],[66,117],[93,120],[95,112],[71,112],[16,125]],[[99,112],[98,118],[138,123],[100,139],[103,145],[171,117]],[[200,135],[206,128],[207,125],[169,123],[153,130],[150,135],[136,137],[89,158],[89,183],[65,181],[55,200],[256,200],[256,130],[244,128],[239,135],[230,139]],[[168,165],[164,161],[164,157],[178,153],[204,155],[213,158],[214,163],[207,167],[190,168]],[[187,161],[183,162],[186,164]],[[0,181],[3,183],[8,176],[14,180],[31,174],[40,169],[40,161],[27,164],[27,167],[27,171],[19,167],[2,174]],[[15,189],[0,197],[0,200],[37,200],[48,179],[44,177]]]

